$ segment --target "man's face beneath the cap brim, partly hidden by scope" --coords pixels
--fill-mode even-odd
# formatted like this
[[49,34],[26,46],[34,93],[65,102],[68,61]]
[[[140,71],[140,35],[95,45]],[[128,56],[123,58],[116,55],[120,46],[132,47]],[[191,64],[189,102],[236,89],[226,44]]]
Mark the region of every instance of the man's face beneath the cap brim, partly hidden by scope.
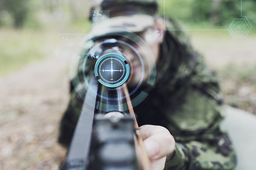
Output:
[[[120,41],[118,46],[129,62],[128,86],[137,86],[140,81],[142,83],[146,82],[151,72],[156,69],[155,66],[159,60],[159,49],[163,41],[164,30],[164,21],[159,19],[154,26],[142,32],[127,33],[127,35],[113,37]],[[105,40],[105,38],[100,38],[99,42],[102,40]]]

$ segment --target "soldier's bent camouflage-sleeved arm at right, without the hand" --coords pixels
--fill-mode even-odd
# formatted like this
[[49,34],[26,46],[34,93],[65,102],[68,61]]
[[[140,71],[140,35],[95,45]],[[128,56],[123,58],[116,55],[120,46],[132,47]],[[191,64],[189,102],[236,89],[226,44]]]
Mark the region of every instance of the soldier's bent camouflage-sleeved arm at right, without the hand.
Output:
[[166,159],[165,169],[234,169],[235,151],[219,125],[221,105],[197,89],[189,89],[186,102],[169,116],[176,149]]

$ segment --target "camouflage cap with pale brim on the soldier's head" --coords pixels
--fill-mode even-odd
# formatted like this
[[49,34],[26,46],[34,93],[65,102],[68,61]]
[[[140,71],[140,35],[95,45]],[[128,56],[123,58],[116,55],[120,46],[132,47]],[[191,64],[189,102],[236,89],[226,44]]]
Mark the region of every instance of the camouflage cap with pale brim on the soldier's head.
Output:
[[107,35],[123,30],[137,33],[154,26],[158,5],[157,0],[94,0],[90,17],[92,22],[95,11],[102,19],[93,23],[93,35]]

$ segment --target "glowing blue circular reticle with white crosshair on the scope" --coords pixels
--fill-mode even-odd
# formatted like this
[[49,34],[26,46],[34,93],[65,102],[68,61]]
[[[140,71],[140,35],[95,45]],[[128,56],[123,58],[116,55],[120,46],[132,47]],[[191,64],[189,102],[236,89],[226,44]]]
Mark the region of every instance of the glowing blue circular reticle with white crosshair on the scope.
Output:
[[95,64],[95,77],[100,84],[115,88],[122,86],[129,77],[129,64],[122,55],[109,53]]

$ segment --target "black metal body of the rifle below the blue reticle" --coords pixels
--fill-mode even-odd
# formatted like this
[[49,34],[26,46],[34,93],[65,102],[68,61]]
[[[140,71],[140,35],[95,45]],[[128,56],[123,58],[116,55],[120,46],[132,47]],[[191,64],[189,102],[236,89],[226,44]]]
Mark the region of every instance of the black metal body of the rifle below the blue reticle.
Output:
[[[107,100],[99,94],[119,99]],[[101,86],[95,79],[90,81],[63,169],[140,169],[134,146],[134,119],[124,112],[120,96],[121,90]]]

